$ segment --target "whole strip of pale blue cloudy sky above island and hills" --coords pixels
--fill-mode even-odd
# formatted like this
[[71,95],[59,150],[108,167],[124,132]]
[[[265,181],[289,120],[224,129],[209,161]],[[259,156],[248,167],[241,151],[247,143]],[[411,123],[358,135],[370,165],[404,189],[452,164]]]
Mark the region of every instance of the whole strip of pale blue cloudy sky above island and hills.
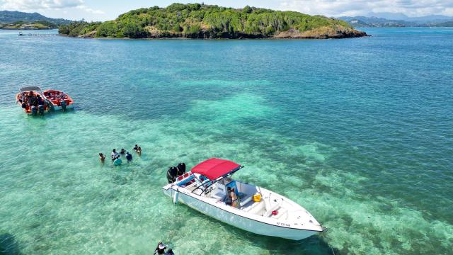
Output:
[[[52,18],[68,18],[87,21],[107,21],[134,8],[168,6],[165,0],[0,0],[0,10],[39,12]],[[442,14],[453,16],[453,0],[253,0],[216,1],[205,0],[205,4],[231,6],[256,6],[283,11],[300,11],[325,16],[359,16],[369,13],[403,13],[407,16]]]

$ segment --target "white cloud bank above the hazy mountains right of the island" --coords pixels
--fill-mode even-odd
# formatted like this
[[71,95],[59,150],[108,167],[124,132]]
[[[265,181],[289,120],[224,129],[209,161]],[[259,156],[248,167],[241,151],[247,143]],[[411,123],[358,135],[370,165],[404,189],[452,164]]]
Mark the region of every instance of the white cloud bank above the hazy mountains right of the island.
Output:
[[282,0],[280,9],[326,16],[403,13],[407,16],[451,15],[453,0]]

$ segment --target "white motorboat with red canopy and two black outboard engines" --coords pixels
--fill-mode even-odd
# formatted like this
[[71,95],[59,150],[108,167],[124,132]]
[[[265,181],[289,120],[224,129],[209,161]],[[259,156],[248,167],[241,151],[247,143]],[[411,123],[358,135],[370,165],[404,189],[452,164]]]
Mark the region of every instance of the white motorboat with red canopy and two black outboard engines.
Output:
[[[171,183],[163,187],[164,193],[173,198],[173,203],[184,203],[256,234],[300,240],[323,231],[301,205],[265,188],[231,179],[242,167],[224,159],[207,159],[187,173],[184,173],[185,165],[183,169],[178,166],[178,171],[168,170]],[[225,203],[228,188],[239,198],[236,207]]]

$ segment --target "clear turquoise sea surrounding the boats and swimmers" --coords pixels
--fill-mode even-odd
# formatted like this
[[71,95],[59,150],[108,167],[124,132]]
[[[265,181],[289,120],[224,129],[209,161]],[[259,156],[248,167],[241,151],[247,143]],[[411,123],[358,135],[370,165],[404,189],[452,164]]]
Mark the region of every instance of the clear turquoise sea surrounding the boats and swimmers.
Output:
[[[0,254],[451,254],[453,29],[344,40],[94,40],[0,31]],[[39,32],[48,33],[48,32]],[[56,31],[52,31],[56,33]],[[25,115],[18,87],[74,111]],[[98,153],[142,157],[115,167]],[[220,157],[326,233],[263,237],[173,205]]]

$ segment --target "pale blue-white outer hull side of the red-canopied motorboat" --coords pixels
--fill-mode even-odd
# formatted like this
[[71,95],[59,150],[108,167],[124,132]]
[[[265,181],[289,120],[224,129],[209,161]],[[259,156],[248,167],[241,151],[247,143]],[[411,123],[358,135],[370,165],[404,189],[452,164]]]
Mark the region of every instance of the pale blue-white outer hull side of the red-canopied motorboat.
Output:
[[[178,191],[174,190],[173,188],[164,188],[164,193],[171,198],[173,198],[176,192]],[[262,234],[270,237],[281,237],[292,240],[301,240],[318,233],[317,231],[283,227],[266,222],[261,222],[259,220],[254,220],[249,217],[244,217],[235,214],[234,212],[230,212],[229,210],[222,209],[222,205],[216,206],[215,203],[200,200],[195,196],[189,196],[182,192],[178,192],[178,203],[188,205],[190,208],[213,217],[214,219],[246,230],[248,232],[253,232],[255,234]]]

